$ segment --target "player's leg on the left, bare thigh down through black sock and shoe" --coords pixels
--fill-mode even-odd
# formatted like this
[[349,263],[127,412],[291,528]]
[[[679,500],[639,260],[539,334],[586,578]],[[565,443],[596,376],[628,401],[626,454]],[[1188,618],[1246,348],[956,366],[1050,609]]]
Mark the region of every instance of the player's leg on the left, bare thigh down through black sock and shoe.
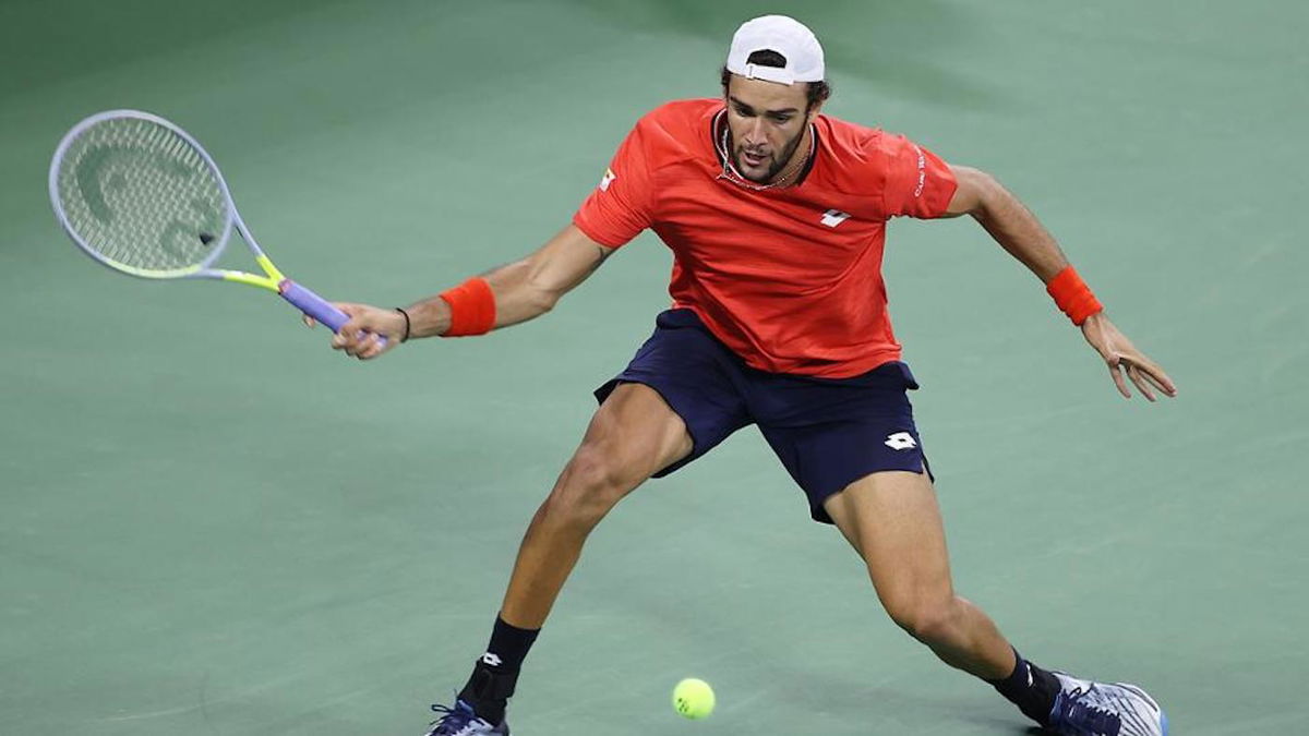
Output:
[[508,735],[504,710],[535,633],[546,622],[586,536],[628,492],[691,453],[682,418],[654,389],[620,384],[537,509],[518,547],[492,644],[432,735]]

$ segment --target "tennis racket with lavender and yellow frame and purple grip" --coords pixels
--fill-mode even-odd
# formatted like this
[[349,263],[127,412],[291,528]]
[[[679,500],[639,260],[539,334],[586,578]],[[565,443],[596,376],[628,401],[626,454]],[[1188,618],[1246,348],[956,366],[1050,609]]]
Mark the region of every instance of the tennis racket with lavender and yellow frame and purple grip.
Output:
[[[68,237],[122,274],[264,288],[332,331],[350,320],[274,266],[237,212],[213,158],[157,115],[110,110],[73,126],[50,162],[50,202]],[[263,275],[211,267],[233,230]]]

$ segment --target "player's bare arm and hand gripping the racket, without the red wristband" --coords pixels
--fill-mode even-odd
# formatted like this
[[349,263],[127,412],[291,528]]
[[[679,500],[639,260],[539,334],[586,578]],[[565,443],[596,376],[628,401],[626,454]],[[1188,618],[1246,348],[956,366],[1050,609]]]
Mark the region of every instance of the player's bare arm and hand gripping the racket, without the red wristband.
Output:
[[[550,312],[613,253],[613,248],[593,241],[577,225],[569,224],[525,258],[482,274],[495,296],[493,329]],[[367,304],[336,306],[351,318],[332,338],[332,347],[348,355],[364,360],[377,358],[404,337],[404,316],[394,309]],[[404,310],[410,318],[410,339],[442,335],[450,329],[450,305],[440,296],[418,301]],[[386,346],[368,335],[385,337]]]

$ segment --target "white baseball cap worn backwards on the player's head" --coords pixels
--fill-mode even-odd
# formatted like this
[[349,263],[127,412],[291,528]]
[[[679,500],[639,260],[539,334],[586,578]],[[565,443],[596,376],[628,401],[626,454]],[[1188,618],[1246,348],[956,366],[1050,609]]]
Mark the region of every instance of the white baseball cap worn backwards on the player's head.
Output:
[[[761,67],[747,62],[755,51],[776,51],[785,67]],[[747,79],[779,84],[822,81],[822,46],[814,31],[788,16],[761,16],[741,24],[728,50],[728,71]]]

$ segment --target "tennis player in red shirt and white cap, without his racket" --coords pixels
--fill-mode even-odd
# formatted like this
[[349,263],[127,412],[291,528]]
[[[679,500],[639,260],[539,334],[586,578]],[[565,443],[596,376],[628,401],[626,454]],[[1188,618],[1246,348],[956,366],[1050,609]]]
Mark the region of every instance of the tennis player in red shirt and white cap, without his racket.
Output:
[[[1155,401],[1164,371],[1105,316],[1054,238],[995,179],[912,141],[821,114],[822,47],[783,16],[733,37],[724,98],[643,117],[572,223],[526,258],[406,309],[342,304],[332,339],[372,359],[416,337],[474,335],[541,316],[649,228],[673,250],[673,308],[596,393],[581,445],[537,511],[491,643],[433,735],[507,735],[528,650],[589,532],[624,495],[733,431],[759,426],[808,496],[865,561],[884,608],[946,664],[992,684],[1059,733],[1164,735],[1134,685],[1025,660],[954,593],[931,471],[886,313],[886,221],[971,215],[1046,284],[1106,363]],[[380,340],[377,337],[385,337]]]

